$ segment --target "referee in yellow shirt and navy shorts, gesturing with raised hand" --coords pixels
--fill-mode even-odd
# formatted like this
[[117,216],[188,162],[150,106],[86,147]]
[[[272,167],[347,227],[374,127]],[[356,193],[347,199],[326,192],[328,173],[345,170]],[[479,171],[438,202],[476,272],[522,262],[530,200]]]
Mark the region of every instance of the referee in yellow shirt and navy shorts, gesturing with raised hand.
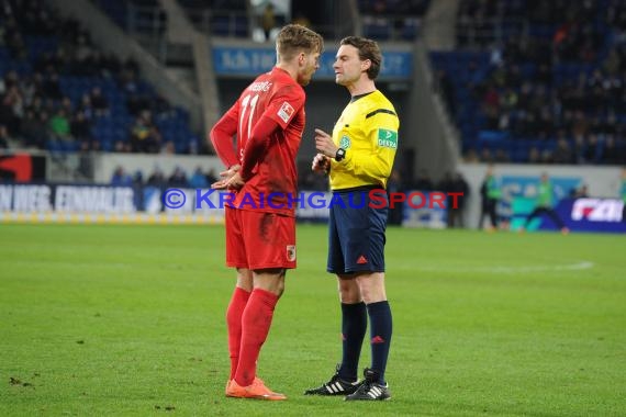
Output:
[[[312,169],[328,172],[333,191],[327,271],[337,274],[339,281],[343,358],[335,375],[308,390],[308,395],[345,395],[348,401],[391,397],[384,380],[392,333],[384,290],[384,188],[398,149],[400,122],[391,102],[375,84],[381,64],[376,42],[344,38],[333,68],[335,81],[348,89],[351,99],[332,136],[315,129],[318,154]],[[359,382],[368,317],[371,365]]]

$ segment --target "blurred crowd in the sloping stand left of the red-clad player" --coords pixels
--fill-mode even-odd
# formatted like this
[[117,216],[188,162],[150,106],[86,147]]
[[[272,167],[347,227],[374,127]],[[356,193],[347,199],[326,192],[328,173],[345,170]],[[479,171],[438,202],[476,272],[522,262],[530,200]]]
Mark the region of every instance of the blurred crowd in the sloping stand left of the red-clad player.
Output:
[[193,145],[186,112],[143,81],[134,60],[102,53],[78,21],[43,0],[1,5],[0,147],[206,150]]

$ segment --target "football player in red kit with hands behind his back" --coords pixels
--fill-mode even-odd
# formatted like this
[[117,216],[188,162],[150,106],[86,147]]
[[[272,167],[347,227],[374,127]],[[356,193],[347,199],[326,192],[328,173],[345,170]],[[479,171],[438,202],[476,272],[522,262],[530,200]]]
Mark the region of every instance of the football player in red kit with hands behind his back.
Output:
[[[237,282],[226,311],[231,376],[226,396],[286,399],[256,374],[288,269],[295,268],[295,156],[304,131],[306,86],[320,67],[321,35],[282,27],[277,64],[255,79],[211,129],[227,169],[212,187],[235,192],[225,207],[226,264]],[[236,149],[233,138],[237,136]]]

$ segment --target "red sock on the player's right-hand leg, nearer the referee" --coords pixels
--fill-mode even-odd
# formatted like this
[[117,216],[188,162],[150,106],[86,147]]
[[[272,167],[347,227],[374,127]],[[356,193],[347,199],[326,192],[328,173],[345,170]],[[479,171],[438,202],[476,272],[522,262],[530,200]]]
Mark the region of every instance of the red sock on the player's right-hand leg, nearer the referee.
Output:
[[242,316],[242,343],[235,381],[248,386],[256,376],[257,359],[271,325],[278,295],[255,289]]

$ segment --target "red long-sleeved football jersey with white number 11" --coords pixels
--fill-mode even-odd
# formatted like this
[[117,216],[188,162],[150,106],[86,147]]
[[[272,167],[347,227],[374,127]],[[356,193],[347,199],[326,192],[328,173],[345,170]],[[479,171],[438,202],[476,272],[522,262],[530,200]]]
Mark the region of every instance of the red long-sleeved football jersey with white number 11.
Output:
[[287,71],[275,67],[257,77],[224,115],[237,121],[237,158],[242,166],[246,144],[261,116],[280,126],[267,138],[254,174],[237,192],[233,206],[295,216],[295,156],[304,132],[304,89]]

